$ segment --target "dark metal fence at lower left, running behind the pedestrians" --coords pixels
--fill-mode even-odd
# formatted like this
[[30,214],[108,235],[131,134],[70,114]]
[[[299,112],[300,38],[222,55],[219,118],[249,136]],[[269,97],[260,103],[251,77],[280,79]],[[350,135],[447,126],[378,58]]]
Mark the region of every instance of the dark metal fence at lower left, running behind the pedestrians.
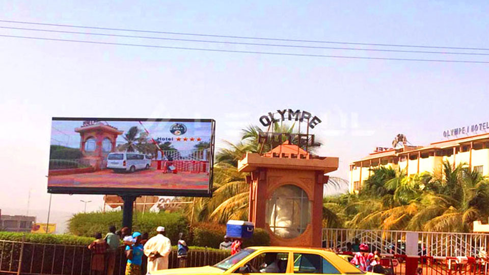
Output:
[[[190,250],[186,266],[213,265],[228,256],[226,251]],[[0,240],[0,274],[90,275],[91,258],[91,251],[82,245]],[[121,250],[116,255],[115,275],[124,274],[125,263],[125,254]],[[169,268],[177,267],[177,252],[172,251]]]

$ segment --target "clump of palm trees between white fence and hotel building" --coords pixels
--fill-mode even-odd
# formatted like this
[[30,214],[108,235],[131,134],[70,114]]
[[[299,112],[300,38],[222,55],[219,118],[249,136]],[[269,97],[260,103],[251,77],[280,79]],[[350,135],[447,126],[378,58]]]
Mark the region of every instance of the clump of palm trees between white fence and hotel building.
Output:
[[328,198],[324,205],[347,228],[470,232],[473,221],[489,215],[489,181],[464,167],[445,161],[441,171],[411,177],[373,169],[358,195]]

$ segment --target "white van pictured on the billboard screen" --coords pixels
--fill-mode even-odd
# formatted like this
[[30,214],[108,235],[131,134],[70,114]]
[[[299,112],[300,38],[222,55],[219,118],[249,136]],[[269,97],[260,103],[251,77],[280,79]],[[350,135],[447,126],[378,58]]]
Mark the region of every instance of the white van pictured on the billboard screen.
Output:
[[119,152],[107,155],[107,169],[114,172],[130,172],[147,170],[151,167],[151,156],[137,152]]

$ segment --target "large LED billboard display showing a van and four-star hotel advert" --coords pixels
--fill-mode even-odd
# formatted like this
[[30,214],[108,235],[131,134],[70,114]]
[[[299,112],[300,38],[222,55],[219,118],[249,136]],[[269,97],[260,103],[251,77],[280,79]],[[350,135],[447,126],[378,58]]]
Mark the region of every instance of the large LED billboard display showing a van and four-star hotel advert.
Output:
[[211,196],[211,119],[53,118],[48,192]]

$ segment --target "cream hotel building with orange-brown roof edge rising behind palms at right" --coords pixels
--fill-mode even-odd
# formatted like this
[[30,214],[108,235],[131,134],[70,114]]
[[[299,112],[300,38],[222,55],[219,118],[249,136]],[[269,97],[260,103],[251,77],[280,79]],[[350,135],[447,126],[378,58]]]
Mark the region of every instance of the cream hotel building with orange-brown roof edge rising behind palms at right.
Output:
[[362,187],[376,167],[406,170],[407,175],[433,172],[448,160],[459,163],[482,175],[489,175],[489,133],[431,143],[429,146],[400,146],[380,148],[368,156],[350,163],[350,193]]

